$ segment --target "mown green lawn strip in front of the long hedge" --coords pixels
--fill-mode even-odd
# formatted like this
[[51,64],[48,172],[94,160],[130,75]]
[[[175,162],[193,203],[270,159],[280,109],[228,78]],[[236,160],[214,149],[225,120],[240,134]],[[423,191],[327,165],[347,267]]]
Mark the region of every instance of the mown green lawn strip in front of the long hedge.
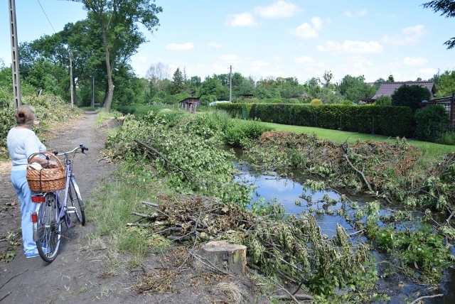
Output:
[[[271,126],[276,131],[291,131],[297,133],[314,133],[321,139],[327,139],[328,141],[334,141],[336,143],[356,143],[357,141],[387,141],[389,143],[395,143],[395,138],[373,135],[373,134],[359,134],[347,131],[337,131],[330,129],[319,129],[311,126],[289,126],[286,124],[272,124],[263,122],[267,126]],[[439,143],[429,143],[427,141],[414,141],[408,139],[407,142],[419,148],[424,156],[434,157],[440,156],[441,154],[455,152],[455,146],[446,146]]]

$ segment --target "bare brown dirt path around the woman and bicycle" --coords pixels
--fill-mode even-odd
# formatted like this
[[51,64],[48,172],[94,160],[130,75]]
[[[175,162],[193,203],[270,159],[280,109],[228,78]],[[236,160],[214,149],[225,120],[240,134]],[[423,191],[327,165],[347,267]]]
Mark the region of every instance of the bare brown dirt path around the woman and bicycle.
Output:
[[[87,112],[54,130],[45,142],[49,151],[68,150],[80,143],[89,148],[87,156],[77,154],[74,161],[77,184],[86,202],[95,185],[114,170],[114,165],[102,161],[106,129],[95,129],[95,120],[95,113]],[[10,172],[11,162],[0,162],[0,254],[8,244],[5,236],[9,232],[21,235],[20,209]],[[53,263],[39,257],[26,259],[21,244],[13,261],[0,259],[0,303],[270,303],[255,297],[255,283],[250,278],[194,268],[187,249],[178,244],[164,256],[150,252],[141,266],[125,268],[120,264],[127,256],[109,249],[109,237],[90,238],[96,229],[90,215],[84,227],[63,227],[63,244]],[[117,267],[117,273],[109,273],[111,266]],[[134,286],[144,276],[168,288],[141,295]],[[243,300],[234,300],[234,295]]]

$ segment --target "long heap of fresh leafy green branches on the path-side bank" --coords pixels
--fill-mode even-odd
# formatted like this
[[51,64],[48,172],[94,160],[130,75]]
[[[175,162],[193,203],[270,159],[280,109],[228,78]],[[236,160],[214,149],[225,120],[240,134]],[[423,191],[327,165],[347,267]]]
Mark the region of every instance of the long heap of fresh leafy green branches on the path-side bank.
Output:
[[[108,145],[124,151],[123,159],[151,165],[160,175],[168,176],[178,192],[200,191],[245,207],[250,201],[250,190],[232,180],[236,173],[230,161],[232,152],[213,146],[198,136],[198,131],[188,133],[193,128],[185,124],[191,124],[191,117],[170,127],[173,123],[168,119],[174,118],[149,112],[142,121],[125,119],[119,133],[109,137]],[[153,147],[154,151],[137,141]]]

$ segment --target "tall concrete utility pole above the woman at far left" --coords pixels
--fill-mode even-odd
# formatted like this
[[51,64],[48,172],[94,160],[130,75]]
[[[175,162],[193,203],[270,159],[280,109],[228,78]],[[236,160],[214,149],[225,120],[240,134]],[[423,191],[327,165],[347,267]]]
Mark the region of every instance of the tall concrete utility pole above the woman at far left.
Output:
[[19,75],[19,55],[16,26],[16,2],[9,0],[9,28],[11,32],[11,69],[13,70],[14,109],[21,107],[21,77]]

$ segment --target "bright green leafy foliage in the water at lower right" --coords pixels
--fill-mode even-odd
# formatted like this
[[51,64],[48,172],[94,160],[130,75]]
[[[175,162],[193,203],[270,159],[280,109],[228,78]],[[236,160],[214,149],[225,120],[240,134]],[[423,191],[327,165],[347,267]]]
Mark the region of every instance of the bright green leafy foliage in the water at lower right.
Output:
[[[390,260],[400,261],[395,263],[401,266],[395,271],[414,273],[412,276],[421,282],[439,282],[443,269],[455,260],[444,237],[426,223],[431,219],[428,215],[419,220],[413,220],[410,213],[382,218],[379,203],[372,202],[355,212],[355,219],[355,227],[365,229],[375,248],[390,254]],[[387,224],[380,227],[380,219]],[[397,229],[397,225],[403,229]]]

